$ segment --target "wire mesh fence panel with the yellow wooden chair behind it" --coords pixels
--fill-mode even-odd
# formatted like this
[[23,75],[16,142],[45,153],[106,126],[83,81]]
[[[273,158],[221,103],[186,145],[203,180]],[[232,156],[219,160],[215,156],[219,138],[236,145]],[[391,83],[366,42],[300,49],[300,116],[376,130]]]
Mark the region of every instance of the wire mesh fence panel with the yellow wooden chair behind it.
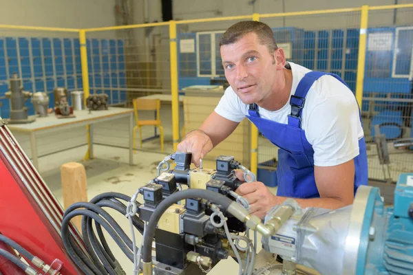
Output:
[[[91,96],[107,94],[109,105],[127,108],[134,108],[136,99],[160,100],[159,112],[136,110],[134,147],[160,152],[163,134],[165,152],[172,153],[169,25],[87,32],[87,53]],[[163,131],[153,125],[156,120]],[[97,124],[96,142],[126,148],[128,123],[120,119]],[[138,127],[142,123],[145,126]]]

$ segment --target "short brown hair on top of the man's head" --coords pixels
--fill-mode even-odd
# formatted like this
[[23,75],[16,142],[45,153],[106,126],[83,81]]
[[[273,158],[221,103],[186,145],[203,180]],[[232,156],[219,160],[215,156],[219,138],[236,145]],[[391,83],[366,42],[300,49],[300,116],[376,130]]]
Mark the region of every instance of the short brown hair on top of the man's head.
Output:
[[249,33],[255,33],[262,45],[268,47],[268,51],[273,53],[277,50],[277,43],[274,39],[273,30],[266,24],[259,21],[241,21],[231,25],[221,37],[220,46],[230,45]]

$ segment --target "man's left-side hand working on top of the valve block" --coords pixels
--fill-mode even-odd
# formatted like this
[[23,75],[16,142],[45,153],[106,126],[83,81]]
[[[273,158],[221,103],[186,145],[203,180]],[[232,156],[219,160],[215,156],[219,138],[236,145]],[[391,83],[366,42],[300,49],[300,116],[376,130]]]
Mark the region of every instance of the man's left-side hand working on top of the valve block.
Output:
[[202,130],[189,132],[178,144],[179,152],[192,153],[192,162],[197,167],[200,166],[200,159],[204,158],[212,148],[211,138]]

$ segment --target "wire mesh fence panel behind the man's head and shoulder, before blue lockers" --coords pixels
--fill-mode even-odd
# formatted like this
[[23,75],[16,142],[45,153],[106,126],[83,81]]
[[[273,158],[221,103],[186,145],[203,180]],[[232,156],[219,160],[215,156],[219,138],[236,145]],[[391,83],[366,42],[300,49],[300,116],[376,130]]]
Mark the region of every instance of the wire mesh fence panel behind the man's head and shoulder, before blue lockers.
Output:
[[[355,94],[361,12],[262,17],[260,21],[273,29],[286,61],[337,74]],[[260,134],[258,168],[273,169],[277,160],[277,147]]]

